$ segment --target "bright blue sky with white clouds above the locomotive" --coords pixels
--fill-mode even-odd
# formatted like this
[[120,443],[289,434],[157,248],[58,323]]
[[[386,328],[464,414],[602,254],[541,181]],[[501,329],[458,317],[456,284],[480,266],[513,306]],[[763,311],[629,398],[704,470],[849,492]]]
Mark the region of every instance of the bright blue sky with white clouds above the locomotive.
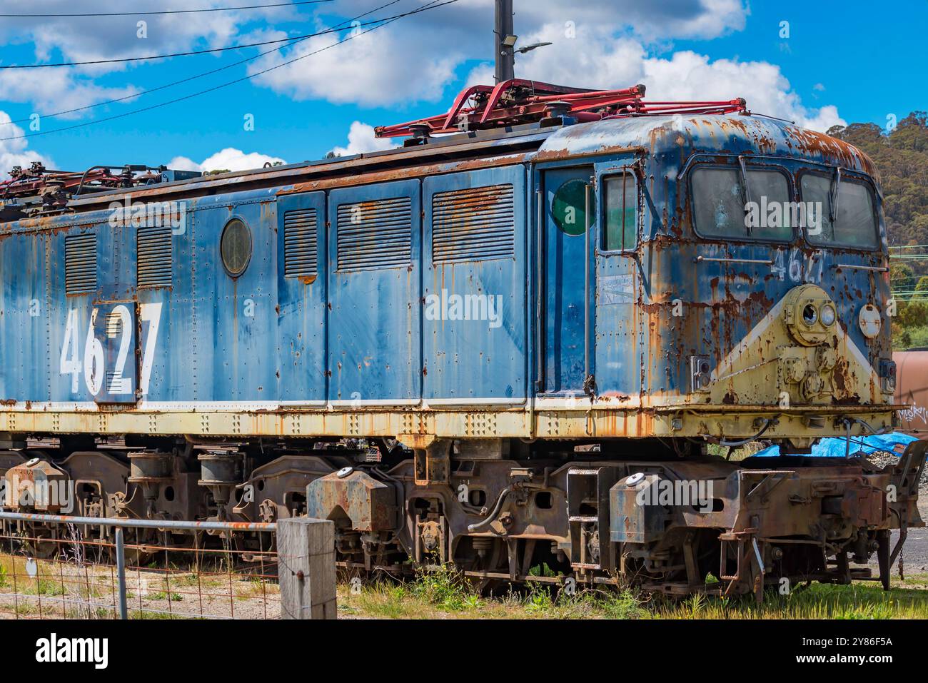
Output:
[[[137,11],[269,5],[282,0],[137,0]],[[234,12],[110,18],[0,18],[0,66],[160,55],[304,35],[338,26],[388,0],[334,0]],[[388,17],[425,0],[398,0]],[[833,123],[898,119],[928,109],[923,32],[928,3],[882,15],[862,1],[612,0],[580,7],[514,0],[524,45],[518,76],[622,87],[655,98],[746,97],[761,113],[826,130]],[[576,3],[574,3],[576,4]],[[125,12],[119,0],[0,0],[0,14]],[[37,70],[0,70],[0,176],[34,159],[67,170],[97,163],[251,168],[383,148],[369,126],[444,111],[465,84],[489,82],[492,0],[454,4],[355,35],[318,36],[246,64],[118,104],[151,87],[273,50]],[[879,8],[877,8],[879,10]],[[366,19],[366,20],[367,20]],[[137,21],[145,20],[144,31]],[[783,24],[783,22],[788,22]],[[788,36],[785,32],[788,31]],[[364,29],[354,29],[355,33]],[[140,35],[144,33],[144,35]],[[113,121],[111,116],[211,88],[302,57],[249,81]],[[49,117],[80,107],[91,109]],[[38,130],[30,117],[38,113]],[[9,120],[24,120],[15,124]],[[252,126],[248,125],[253,121]],[[97,122],[97,123],[92,123]],[[5,124],[6,123],[6,124]],[[59,127],[82,125],[49,133]],[[32,128],[36,123],[32,123]]]

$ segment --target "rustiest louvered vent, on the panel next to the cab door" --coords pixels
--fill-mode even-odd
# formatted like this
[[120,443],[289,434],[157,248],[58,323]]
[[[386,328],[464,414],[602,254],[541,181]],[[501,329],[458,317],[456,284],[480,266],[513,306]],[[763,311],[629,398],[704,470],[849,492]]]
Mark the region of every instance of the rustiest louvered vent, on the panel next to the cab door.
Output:
[[439,192],[432,197],[432,261],[455,264],[515,256],[511,185]]

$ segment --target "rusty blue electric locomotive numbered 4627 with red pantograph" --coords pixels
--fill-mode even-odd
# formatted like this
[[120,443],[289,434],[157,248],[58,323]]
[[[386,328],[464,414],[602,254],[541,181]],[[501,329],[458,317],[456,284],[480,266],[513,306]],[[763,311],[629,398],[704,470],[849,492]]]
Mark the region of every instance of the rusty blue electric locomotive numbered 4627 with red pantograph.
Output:
[[[873,164],[741,100],[643,96],[509,81],[384,152],[17,169],[7,483],[71,483],[85,516],[327,518],[345,568],[486,588],[759,597],[874,553],[888,586],[925,444],[799,457],[895,424]],[[785,455],[726,457],[755,440]]]

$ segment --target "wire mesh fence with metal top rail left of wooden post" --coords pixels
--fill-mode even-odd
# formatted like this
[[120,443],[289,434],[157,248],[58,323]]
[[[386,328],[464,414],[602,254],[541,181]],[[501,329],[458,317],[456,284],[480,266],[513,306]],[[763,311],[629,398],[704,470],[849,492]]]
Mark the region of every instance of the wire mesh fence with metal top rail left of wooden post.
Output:
[[0,512],[0,618],[277,619],[274,526]]

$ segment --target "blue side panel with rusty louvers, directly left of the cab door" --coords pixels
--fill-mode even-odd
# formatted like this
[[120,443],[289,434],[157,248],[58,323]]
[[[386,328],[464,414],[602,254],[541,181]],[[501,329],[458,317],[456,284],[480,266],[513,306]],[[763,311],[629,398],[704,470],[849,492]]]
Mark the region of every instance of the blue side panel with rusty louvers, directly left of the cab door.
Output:
[[422,183],[423,378],[430,405],[525,400],[525,169]]

